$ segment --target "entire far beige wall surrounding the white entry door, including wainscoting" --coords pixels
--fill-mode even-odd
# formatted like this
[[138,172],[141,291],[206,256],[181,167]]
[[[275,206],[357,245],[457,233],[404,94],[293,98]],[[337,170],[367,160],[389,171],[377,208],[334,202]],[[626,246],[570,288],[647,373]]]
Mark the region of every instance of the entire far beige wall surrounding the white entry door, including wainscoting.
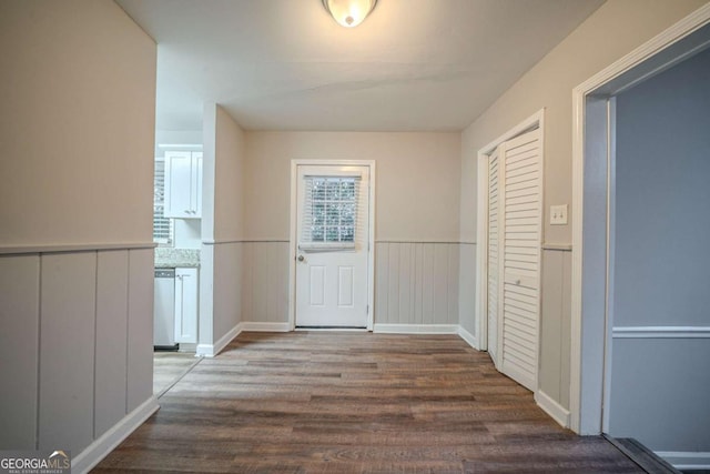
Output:
[[[452,246],[455,248],[452,254],[458,255],[457,245],[440,242],[458,242],[460,133],[247,132],[245,239],[253,242],[244,246],[243,253],[243,319],[260,323],[284,323],[288,320],[287,242],[293,159],[375,160],[375,239],[397,241],[377,246],[375,323],[455,322],[458,282],[447,278],[457,275],[457,261],[449,268],[449,254],[444,253],[446,258],[437,260],[444,266],[436,266],[437,275],[444,274],[444,279],[434,281],[425,278],[426,281],[420,281],[417,286],[415,270],[419,269],[416,274],[420,276],[423,266],[413,263],[409,272],[404,264],[400,268],[393,261],[395,252],[385,254],[379,250],[390,245],[397,249],[414,245],[440,246],[446,252]],[[408,265],[409,260],[406,263]],[[399,307],[395,311],[394,306],[386,304],[405,297],[398,291],[399,285],[394,284],[394,271],[383,273],[383,269],[389,269],[388,265],[395,265],[396,276],[406,280],[407,284],[418,288],[423,294],[435,295],[437,309],[445,307],[446,311],[425,317],[423,305],[413,303],[412,311]],[[384,284],[385,281],[393,284]],[[406,299],[407,302],[414,301],[414,293]]]

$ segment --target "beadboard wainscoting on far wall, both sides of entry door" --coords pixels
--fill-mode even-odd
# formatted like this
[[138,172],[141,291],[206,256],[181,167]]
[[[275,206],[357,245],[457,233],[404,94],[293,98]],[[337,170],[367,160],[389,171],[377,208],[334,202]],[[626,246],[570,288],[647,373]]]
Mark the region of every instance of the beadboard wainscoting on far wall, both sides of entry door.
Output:
[[[242,321],[287,323],[288,242],[242,245]],[[416,327],[458,325],[459,246],[457,242],[378,242],[376,326],[425,331]]]

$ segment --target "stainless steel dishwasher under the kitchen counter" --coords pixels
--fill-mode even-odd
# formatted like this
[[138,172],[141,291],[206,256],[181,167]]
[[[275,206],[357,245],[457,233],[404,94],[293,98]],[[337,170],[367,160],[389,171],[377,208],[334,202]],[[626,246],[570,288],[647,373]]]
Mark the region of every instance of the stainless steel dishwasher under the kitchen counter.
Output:
[[175,269],[155,269],[153,346],[176,350],[175,344]]

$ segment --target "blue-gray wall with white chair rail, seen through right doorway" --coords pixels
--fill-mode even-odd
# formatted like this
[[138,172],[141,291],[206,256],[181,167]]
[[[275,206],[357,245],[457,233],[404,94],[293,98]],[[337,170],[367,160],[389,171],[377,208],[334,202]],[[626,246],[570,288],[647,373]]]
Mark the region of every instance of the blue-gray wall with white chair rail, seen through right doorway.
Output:
[[617,99],[609,431],[656,451],[710,451],[710,339],[668,333],[710,326],[708,84],[710,50]]

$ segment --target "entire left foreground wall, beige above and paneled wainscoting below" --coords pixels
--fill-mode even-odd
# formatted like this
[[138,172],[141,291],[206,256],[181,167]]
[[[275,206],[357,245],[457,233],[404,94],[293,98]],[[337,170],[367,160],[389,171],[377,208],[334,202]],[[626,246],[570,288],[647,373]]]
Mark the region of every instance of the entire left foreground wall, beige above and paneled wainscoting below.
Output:
[[110,0],[0,2],[0,445],[77,472],[158,409],[155,52]]

